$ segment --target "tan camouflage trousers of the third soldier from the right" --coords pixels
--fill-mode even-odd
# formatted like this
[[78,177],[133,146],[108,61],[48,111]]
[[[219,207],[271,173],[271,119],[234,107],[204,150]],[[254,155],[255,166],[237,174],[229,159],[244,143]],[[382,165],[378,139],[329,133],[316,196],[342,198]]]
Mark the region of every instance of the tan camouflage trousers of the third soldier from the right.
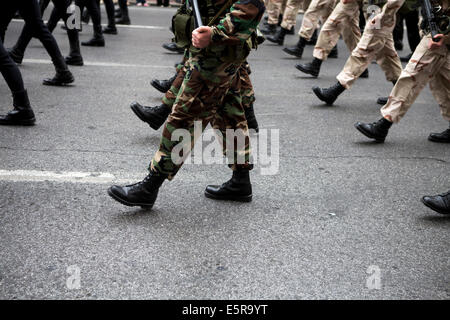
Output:
[[331,50],[342,35],[349,51],[353,51],[361,38],[359,29],[359,8],[357,0],[343,4],[339,2],[328,17],[317,39],[313,56],[322,61],[328,58]]

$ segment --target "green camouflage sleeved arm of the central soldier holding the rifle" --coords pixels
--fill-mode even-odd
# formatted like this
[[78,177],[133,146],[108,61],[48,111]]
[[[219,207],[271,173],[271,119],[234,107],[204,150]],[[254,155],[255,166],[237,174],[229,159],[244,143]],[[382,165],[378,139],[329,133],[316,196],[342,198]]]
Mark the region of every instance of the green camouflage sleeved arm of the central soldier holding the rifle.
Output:
[[264,11],[263,0],[235,1],[230,13],[212,27],[212,42],[233,45],[247,41],[256,31]]

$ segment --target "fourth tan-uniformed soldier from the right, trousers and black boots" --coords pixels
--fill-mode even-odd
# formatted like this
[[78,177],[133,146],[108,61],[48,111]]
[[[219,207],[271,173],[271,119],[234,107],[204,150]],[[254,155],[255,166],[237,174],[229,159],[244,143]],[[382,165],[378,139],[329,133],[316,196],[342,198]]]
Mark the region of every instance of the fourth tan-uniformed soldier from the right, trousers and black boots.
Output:
[[[319,26],[319,21],[326,21],[336,4],[336,0],[313,0],[303,16],[297,44],[293,47],[284,48],[283,51],[301,58],[305,46]],[[337,57],[337,52],[333,56]]]

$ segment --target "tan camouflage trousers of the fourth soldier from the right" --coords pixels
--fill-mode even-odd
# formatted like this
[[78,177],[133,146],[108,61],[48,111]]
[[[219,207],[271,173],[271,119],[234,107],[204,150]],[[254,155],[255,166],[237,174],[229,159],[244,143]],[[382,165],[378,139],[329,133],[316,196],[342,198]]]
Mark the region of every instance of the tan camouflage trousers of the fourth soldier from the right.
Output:
[[336,0],[313,0],[306,10],[302,27],[298,35],[306,40],[311,40],[314,31],[319,26],[319,21],[326,21],[336,6]]

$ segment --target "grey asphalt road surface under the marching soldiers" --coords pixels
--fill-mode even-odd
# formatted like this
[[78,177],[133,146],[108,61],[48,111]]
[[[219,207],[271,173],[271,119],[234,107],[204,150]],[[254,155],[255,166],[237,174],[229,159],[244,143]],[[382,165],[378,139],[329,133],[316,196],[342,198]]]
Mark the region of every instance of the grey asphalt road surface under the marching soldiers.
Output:
[[[54,70],[31,42],[20,70],[37,124],[0,127],[0,298],[449,299],[450,220],[420,202],[450,188],[450,148],[427,141],[448,123],[427,88],[386,143],[362,136],[353,124],[379,119],[375,100],[392,87],[376,64],[333,107],[311,91],[335,82],[342,40],[318,79],[282,47],[251,54],[256,115],[272,151],[279,141],[278,172],[252,173],[253,202],[204,197],[230,176],[219,164],[183,167],[150,212],[108,197],[142,179],[158,147],[161,130],[129,105],[159,104],[149,82],[181,59],[161,48],[174,12],[131,8],[133,25],[105,48],[82,47],[70,87],[41,84]],[[11,23],[6,46],[22,26]],[[54,35],[67,54],[65,32]],[[85,25],[81,40],[91,35]],[[11,101],[2,80],[2,113]]]

